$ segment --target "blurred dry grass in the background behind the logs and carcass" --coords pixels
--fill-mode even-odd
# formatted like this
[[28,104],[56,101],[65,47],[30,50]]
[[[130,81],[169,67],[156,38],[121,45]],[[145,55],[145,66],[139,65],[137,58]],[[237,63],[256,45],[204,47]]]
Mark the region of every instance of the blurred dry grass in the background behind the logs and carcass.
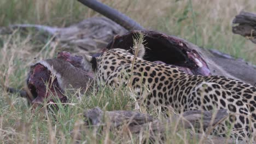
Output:
[[[142,26],[177,35],[199,46],[219,49],[256,63],[255,44],[231,32],[231,21],[241,10],[254,12],[254,0],[141,0],[103,3],[129,15]],[[190,3],[191,2],[191,3]],[[7,1],[0,2],[0,26],[10,23],[37,23],[67,26],[91,16],[99,16],[77,1]]]

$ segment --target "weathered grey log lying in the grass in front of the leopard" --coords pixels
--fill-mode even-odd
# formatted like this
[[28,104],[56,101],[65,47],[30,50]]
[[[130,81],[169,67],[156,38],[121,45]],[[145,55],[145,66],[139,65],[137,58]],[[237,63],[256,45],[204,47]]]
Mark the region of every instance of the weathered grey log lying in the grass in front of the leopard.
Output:
[[[165,130],[165,125],[173,121],[178,121],[181,119],[184,122],[184,128],[191,128],[191,125],[196,127],[210,127],[215,125],[223,120],[228,113],[226,110],[218,110],[217,112],[213,111],[185,111],[181,116],[173,116],[167,118],[164,121],[155,119],[152,116],[146,115],[144,113],[134,112],[134,111],[106,111],[103,112],[100,108],[96,107],[95,109],[90,109],[84,113],[85,119],[88,119],[87,124],[98,125],[102,124],[103,116],[108,117],[110,122],[113,124],[113,127],[119,127],[124,123],[129,123],[129,128],[133,133],[139,133],[141,128],[146,127],[148,122],[152,122],[153,131],[160,127],[160,131]],[[214,120],[212,120],[214,118]],[[200,125],[202,124],[202,125]],[[160,126],[159,126],[160,125]]]

